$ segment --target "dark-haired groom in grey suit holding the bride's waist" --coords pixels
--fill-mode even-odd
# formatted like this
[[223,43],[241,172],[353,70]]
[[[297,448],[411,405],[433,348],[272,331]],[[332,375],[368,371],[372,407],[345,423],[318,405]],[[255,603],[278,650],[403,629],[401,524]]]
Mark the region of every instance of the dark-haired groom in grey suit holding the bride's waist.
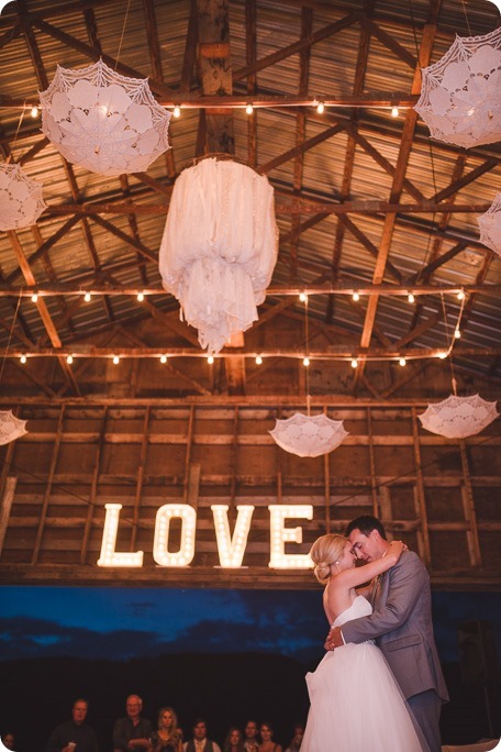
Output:
[[[385,528],[370,515],[353,520],[346,534],[357,559],[367,563],[390,548]],[[368,599],[372,615],[331,629],[325,649],[377,638],[431,752],[441,752],[438,720],[448,695],[433,637],[430,577],[417,554],[404,551],[371,584]]]

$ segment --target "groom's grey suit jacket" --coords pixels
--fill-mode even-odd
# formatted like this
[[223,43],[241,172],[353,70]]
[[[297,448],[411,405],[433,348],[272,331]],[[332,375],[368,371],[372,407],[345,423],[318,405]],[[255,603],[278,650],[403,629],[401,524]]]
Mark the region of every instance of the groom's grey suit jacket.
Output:
[[447,687],[433,637],[430,577],[417,554],[404,551],[372,586],[372,613],[343,624],[345,642],[376,639],[405,698]]

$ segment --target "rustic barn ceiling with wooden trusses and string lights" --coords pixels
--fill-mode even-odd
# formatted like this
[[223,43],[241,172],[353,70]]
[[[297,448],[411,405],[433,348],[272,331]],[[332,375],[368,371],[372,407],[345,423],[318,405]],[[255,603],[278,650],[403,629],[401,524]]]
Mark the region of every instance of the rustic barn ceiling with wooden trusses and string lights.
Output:
[[[501,259],[477,218],[501,147],[431,140],[413,104],[456,32],[499,23],[488,0],[9,2],[1,156],[47,208],[0,233],[4,396],[446,397],[455,376],[496,397]],[[32,112],[57,65],[100,58],[180,108],[147,173],[67,163]],[[258,321],[209,366],[158,248],[176,178],[213,154],[268,177],[280,241]]]

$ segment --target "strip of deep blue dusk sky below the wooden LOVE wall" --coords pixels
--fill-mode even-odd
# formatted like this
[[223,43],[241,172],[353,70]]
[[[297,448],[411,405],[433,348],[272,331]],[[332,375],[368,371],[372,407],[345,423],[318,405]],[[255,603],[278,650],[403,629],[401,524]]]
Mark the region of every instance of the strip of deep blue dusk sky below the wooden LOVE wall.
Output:
[[[500,593],[434,593],[443,661],[457,660],[457,624],[494,626]],[[263,651],[313,660],[326,620],[319,590],[0,587],[0,661],[48,655],[125,660],[169,652]]]

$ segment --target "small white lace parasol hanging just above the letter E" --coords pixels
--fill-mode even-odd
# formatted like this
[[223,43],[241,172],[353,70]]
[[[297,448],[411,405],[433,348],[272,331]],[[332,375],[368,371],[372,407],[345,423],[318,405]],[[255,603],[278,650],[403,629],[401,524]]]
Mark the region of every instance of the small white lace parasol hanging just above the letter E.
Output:
[[323,412],[304,416],[296,412],[291,418],[277,419],[269,431],[282,450],[300,457],[318,457],[337,449],[348,435],[342,420],[332,420]]

